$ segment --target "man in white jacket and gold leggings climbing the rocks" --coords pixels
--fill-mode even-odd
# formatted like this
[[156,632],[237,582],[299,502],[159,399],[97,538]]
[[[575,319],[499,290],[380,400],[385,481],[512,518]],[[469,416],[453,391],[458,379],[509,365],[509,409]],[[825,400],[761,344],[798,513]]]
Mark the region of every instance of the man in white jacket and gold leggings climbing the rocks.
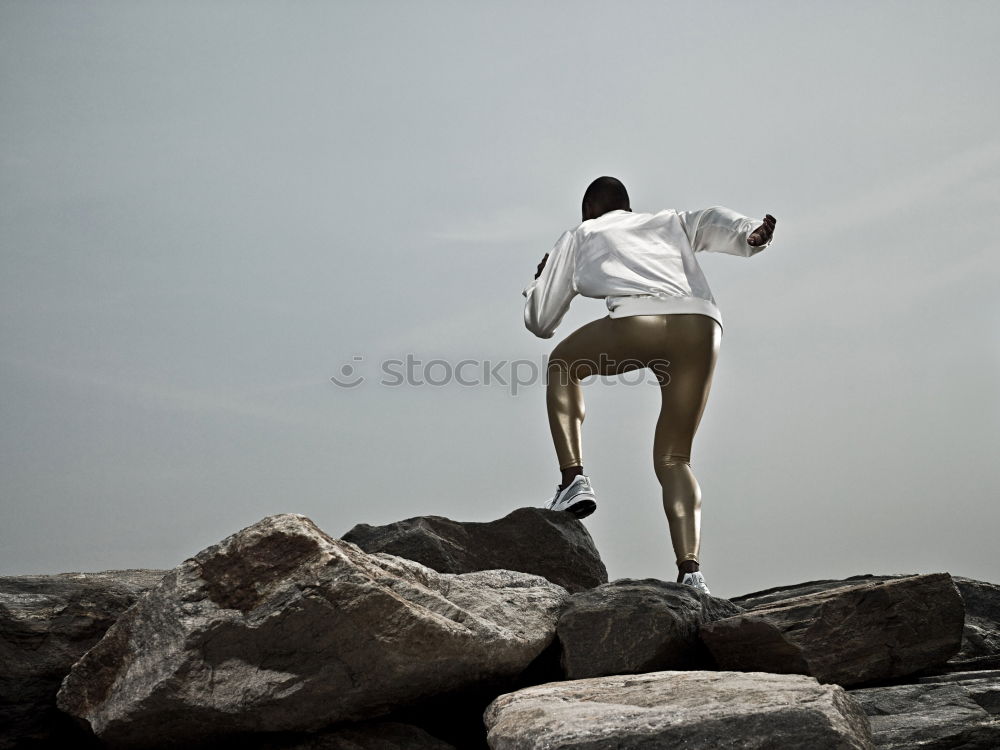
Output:
[[599,177],[583,196],[583,221],[560,236],[524,288],[524,324],[551,338],[577,294],[603,297],[609,314],[563,339],[549,358],[546,408],[561,482],[545,507],[584,518],[597,507],[583,473],[580,380],[649,368],[662,406],[653,468],[663,491],[677,580],[709,593],[700,572],[701,490],[691,444],[708,401],[722,340],[722,314],[698,252],[751,257],[767,247],[776,219],[722,206],[634,213],[620,180]]

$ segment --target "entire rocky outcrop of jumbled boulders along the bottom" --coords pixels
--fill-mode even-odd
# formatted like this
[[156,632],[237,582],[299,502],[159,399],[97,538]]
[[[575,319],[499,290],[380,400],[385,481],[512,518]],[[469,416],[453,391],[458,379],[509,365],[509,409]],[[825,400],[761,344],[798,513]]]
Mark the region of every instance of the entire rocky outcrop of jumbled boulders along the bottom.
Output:
[[522,508],[0,579],[0,750],[1000,746],[1000,586],[606,578],[580,521]]

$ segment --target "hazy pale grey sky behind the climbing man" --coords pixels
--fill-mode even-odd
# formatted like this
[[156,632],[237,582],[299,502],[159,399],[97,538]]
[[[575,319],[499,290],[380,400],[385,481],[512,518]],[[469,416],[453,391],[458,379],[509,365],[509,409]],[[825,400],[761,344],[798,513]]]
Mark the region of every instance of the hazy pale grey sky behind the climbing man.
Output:
[[[998,23],[992,2],[3,2],[0,573],[172,567],[272,513],[340,536],[542,505],[540,380],[381,368],[537,365],[605,314],[577,297],[538,339],[521,289],[611,174],[637,211],[778,219],[764,253],[701,258],[725,321],[692,455],[712,592],[1000,581]],[[330,381],[345,364],[360,385]],[[673,580],[659,393],[585,394],[610,576]]]

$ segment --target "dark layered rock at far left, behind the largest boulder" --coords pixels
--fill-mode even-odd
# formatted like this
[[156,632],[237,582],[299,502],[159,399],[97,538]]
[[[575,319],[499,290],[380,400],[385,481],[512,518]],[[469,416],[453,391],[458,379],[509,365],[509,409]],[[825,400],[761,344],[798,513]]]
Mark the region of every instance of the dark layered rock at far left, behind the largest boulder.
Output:
[[56,709],[73,662],[166,571],[0,577],[0,749],[76,732]]

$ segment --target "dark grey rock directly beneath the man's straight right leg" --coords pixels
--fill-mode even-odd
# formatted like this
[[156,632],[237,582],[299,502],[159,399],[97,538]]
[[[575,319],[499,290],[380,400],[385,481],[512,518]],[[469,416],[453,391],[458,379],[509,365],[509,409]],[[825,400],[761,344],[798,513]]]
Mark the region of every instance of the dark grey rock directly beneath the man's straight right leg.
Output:
[[742,612],[725,599],[656,578],[622,578],[573,594],[556,638],[567,679],[711,669],[698,627]]

